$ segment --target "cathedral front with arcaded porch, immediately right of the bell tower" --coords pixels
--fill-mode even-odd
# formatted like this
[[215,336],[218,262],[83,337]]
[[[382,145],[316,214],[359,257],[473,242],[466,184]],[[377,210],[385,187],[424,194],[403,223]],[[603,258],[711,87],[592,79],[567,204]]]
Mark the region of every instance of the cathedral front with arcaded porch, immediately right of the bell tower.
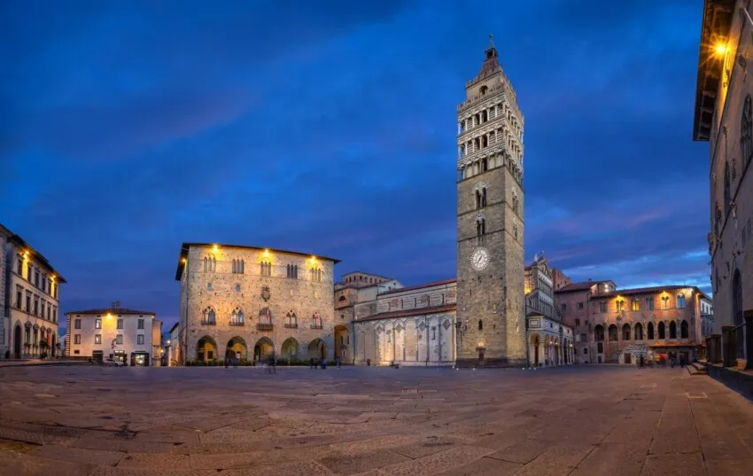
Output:
[[544,252],[525,268],[525,340],[532,367],[571,364],[575,357],[572,327],[563,324],[555,306],[553,275]]

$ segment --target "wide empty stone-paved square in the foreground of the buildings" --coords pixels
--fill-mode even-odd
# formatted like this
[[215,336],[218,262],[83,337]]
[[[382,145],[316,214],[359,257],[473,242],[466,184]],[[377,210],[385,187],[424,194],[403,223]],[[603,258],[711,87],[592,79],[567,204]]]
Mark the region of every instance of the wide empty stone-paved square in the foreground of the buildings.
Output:
[[753,403],[684,369],[0,369],[0,474],[753,473]]

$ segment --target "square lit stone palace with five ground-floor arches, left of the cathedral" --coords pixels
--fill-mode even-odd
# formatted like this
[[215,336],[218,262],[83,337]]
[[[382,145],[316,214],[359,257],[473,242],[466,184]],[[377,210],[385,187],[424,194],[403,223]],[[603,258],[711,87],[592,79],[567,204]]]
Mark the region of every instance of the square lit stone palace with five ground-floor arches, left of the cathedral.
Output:
[[338,260],[253,246],[183,243],[179,339],[186,360],[333,359]]

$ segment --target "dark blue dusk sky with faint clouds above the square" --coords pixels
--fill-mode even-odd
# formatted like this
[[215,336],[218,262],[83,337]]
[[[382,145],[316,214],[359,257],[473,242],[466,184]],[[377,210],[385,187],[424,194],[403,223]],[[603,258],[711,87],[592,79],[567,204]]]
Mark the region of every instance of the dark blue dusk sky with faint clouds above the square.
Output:
[[455,107],[489,33],[525,116],[526,261],[709,286],[703,2],[5,1],[0,222],[63,312],[175,321],[183,241],[455,275]]

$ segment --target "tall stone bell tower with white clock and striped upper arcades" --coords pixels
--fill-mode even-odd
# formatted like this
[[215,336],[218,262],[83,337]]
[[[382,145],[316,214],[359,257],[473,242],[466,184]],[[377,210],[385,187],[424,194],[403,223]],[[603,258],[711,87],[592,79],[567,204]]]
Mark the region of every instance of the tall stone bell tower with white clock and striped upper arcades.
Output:
[[457,107],[457,365],[527,363],[523,114],[489,35]]

